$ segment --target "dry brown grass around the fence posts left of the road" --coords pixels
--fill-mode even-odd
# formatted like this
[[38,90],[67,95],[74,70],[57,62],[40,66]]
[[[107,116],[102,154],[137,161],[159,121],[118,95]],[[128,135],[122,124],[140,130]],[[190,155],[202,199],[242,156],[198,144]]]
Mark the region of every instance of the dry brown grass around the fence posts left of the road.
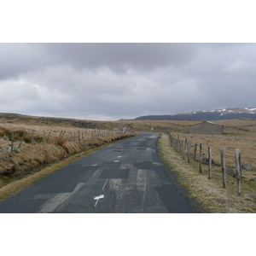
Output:
[[[34,131],[33,144],[31,143],[32,130]],[[80,131],[80,140],[77,136],[78,130]],[[0,138],[0,154],[10,159],[10,161],[0,160],[0,188],[12,182],[15,178],[28,175],[32,172],[32,169],[38,166],[44,166],[73,154],[83,152],[84,150],[98,148],[107,143],[112,143],[125,137],[131,137],[131,134],[118,133],[108,133],[108,137],[105,137],[102,136],[103,131],[100,133],[96,132],[96,137],[91,137],[92,131],[94,130],[55,125],[17,125],[3,123],[0,125],[0,131],[3,131],[3,135],[8,135],[9,137],[11,133],[15,133],[14,148],[19,147],[23,131],[26,131],[20,152],[3,152],[5,148],[10,147],[11,142],[3,140],[2,137]],[[63,137],[60,137],[61,131],[66,131]],[[43,143],[44,132],[45,141],[50,135],[47,143]],[[74,135],[76,135],[75,141],[73,140]],[[14,170],[15,173],[13,173]]]

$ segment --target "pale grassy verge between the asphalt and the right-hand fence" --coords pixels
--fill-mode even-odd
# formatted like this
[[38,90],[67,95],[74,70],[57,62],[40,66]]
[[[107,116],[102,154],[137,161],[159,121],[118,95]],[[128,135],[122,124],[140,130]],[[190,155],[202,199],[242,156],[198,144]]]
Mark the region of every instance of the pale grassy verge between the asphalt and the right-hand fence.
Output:
[[208,212],[256,212],[256,191],[252,183],[242,183],[242,195],[238,196],[236,178],[227,175],[227,189],[223,189],[221,172],[213,168],[212,179],[208,179],[207,166],[204,166],[203,174],[199,173],[198,162],[189,164],[182,160],[170,146],[167,135],[162,134],[160,137],[159,148],[161,159],[177,175],[177,181]]

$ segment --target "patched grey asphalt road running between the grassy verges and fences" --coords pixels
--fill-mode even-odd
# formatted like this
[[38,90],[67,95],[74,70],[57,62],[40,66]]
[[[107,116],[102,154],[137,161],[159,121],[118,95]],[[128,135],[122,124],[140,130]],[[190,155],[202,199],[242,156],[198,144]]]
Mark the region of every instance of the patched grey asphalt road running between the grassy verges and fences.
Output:
[[0,212],[199,212],[166,175],[159,134],[102,148],[44,177],[0,204]]

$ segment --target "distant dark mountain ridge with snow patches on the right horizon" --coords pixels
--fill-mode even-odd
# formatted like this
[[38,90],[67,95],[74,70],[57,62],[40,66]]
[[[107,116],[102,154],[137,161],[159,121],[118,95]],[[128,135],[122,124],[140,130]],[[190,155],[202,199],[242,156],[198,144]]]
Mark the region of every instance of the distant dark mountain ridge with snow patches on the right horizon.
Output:
[[147,115],[135,120],[224,120],[256,119],[256,108],[223,108],[166,115]]

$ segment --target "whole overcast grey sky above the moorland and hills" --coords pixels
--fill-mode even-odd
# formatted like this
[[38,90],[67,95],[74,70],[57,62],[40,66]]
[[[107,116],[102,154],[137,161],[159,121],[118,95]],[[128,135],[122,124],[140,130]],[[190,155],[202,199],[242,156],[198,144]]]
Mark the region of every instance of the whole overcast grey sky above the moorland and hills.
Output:
[[256,44],[0,44],[0,112],[79,119],[255,107]]

